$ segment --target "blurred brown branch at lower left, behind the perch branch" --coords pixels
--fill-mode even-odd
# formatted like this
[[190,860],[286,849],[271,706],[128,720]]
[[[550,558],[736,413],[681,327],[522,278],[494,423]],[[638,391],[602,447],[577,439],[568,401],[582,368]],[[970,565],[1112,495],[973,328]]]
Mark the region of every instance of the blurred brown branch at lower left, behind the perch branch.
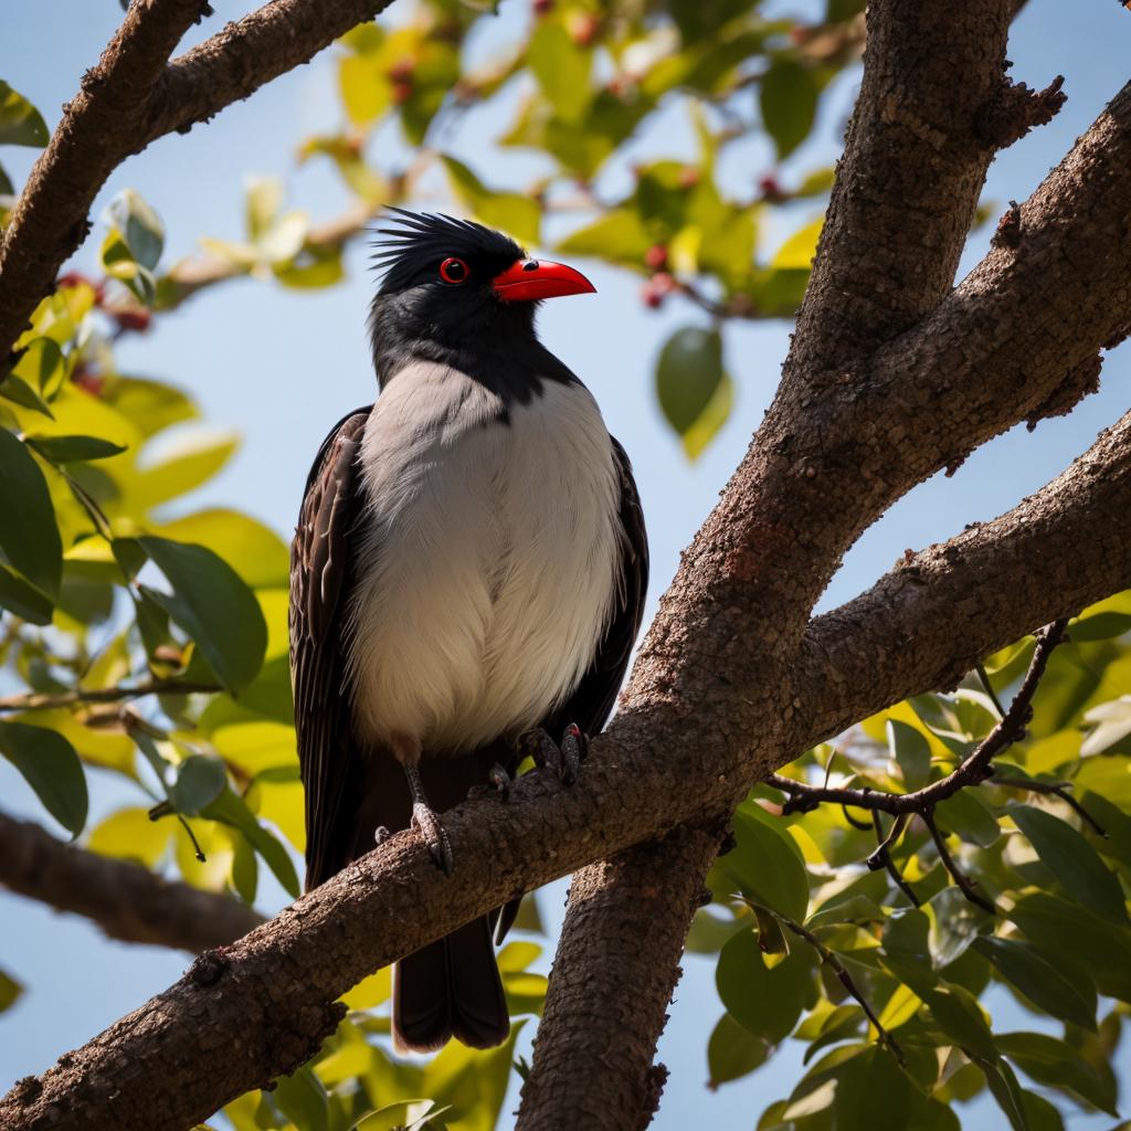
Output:
[[111,939],[200,951],[264,922],[227,896],[154,875],[140,864],[57,840],[0,813],[0,887],[93,920]]

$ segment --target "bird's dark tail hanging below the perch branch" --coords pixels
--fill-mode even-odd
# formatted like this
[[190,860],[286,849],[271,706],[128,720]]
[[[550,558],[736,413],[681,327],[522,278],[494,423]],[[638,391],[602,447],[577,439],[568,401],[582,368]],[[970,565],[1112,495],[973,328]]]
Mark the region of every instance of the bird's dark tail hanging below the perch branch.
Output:
[[493,1048],[509,1034],[490,916],[394,966],[392,1043],[398,1052],[433,1052],[451,1037],[472,1048]]

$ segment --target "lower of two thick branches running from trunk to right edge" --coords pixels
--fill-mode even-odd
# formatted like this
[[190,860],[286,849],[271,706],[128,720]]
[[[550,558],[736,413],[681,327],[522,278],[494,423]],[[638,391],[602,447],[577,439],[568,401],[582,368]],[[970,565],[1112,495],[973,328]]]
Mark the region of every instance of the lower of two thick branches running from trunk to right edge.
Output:
[[[806,744],[908,696],[953,688],[1035,624],[1131,588],[1129,508],[1131,413],[1007,515],[901,559],[815,618],[796,682],[811,711]],[[932,624],[944,631],[924,632]]]

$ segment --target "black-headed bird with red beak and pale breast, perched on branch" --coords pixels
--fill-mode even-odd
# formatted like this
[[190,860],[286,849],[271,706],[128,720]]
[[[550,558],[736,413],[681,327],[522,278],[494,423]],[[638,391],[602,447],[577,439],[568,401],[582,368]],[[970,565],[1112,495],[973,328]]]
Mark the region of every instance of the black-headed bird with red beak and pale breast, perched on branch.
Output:
[[[291,554],[307,888],[390,830],[452,866],[441,815],[524,753],[572,782],[640,629],[632,467],[536,308],[594,286],[510,236],[389,209],[369,317],[378,395],[322,442]],[[394,965],[392,1037],[510,1029],[494,946],[515,900]]]

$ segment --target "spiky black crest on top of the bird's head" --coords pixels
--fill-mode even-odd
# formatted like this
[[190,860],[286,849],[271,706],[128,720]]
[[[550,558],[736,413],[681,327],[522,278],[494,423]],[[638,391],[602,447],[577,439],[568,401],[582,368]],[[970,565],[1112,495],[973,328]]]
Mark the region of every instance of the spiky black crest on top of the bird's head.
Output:
[[503,265],[526,258],[525,250],[510,236],[469,219],[392,206],[388,210],[395,213],[392,222],[398,226],[379,228],[373,241],[373,265],[385,273],[382,292],[411,286],[422,273],[434,273],[449,256]]

